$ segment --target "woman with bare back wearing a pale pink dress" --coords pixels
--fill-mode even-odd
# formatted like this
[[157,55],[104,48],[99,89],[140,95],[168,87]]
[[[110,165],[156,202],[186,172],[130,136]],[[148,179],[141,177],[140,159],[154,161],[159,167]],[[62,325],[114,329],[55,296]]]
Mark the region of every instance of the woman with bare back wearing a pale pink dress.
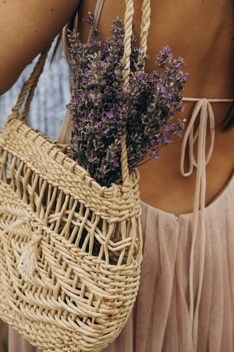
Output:
[[[1,92],[9,89],[27,63],[61,31],[78,5],[77,30],[81,42],[87,42],[89,27],[81,19],[88,11],[94,12],[95,4],[93,0],[69,1],[66,6],[63,1],[39,4],[26,0],[22,4],[18,0],[13,8],[6,0],[0,5],[6,13],[1,23]],[[134,1],[134,33],[138,39],[141,5],[141,0]],[[112,19],[124,17],[124,12],[124,1],[104,1],[98,24],[101,38],[109,37]],[[186,61],[189,78],[185,97],[233,99],[233,23],[231,0],[153,2],[147,40],[150,58],[145,71],[152,73],[156,54],[167,44],[174,57],[182,56]],[[181,139],[161,150],[159,160],[139,168],[145,239],[141,284],[133,313],[105,352],[234,350],[234,128],[222,131],[228,127],[223,120],[232,102],[209,103],[207,99],[186,101],[185,112],[175,117],[187,120],[187,131],[204,122],[203,127],[200,124],[199,141],[190,145],[190,153],[193,151],[199,159],[198,171],[190,166],[186,131]],[[206,117],[209,124],[213,123],[211,108],[215,129],[206,133]],[[233,125],[231,119],[229,124]],[[204,152],[210,154],[214,133],[212,154],[205,166]],[[60,133],[59,137],[63,142],[66,136]],[[184,158],[180,162],[181,148]],[[183,166],[191,171],[188,177]],[[15,345],[10,340],[9,351],[19,351],[18,338],[15,333],[10,336]],[[29,345],[21,350],[35,351]]]

